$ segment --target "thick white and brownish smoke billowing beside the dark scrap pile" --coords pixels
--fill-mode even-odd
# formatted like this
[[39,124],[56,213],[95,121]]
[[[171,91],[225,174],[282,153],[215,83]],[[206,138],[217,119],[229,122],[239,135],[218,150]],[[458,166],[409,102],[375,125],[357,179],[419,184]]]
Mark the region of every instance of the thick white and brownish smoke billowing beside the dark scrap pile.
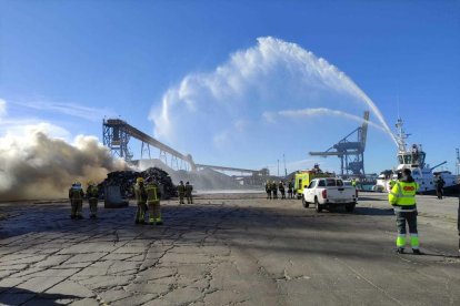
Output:
[[0,201],[67,197],[76,180],[100,182],[126,167],[97,137],[79,135],[70,144],[62,136],[69,133],[41,123],[0,137]]

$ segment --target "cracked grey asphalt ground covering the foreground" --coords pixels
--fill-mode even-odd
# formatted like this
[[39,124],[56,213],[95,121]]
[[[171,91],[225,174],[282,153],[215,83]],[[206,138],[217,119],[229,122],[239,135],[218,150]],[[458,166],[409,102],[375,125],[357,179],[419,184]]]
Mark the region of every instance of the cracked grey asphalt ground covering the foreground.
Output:
[[[264,194],[164,201],[72,221],[70,204],[2,203],[2,305],[460,305],[458,198],[419,196],[423,256],[397,255],[384,194],[354,214]],[[84,204],[88,217],[88,204]]]

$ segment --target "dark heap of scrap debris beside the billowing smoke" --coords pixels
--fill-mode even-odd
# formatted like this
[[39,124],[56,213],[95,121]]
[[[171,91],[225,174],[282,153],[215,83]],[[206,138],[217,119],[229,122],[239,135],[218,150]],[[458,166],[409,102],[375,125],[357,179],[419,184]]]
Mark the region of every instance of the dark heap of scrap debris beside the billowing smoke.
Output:
[[176,186],[172,184],[171,177],[166,171],[158,167],[149,167],[142,172],[136,171],[116,171],[107,174],[107,178],[99,184],[99,191],[103,195],[106,186],[120,186],[121,195],[126,198],[133,197],[133,185],[136,178],[147,178],[151,176],[159,185],[161,197],[170,198],[176,196]]

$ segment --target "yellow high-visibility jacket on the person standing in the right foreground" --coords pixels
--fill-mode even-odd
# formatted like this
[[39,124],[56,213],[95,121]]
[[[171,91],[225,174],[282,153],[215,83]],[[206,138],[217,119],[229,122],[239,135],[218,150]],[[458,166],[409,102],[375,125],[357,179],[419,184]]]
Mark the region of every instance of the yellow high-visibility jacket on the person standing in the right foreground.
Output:
[[416,193],[419,184],[416,182],[398,181],[388,193],[388,201],[393,206],[399,206],[402,211],[416,211]]

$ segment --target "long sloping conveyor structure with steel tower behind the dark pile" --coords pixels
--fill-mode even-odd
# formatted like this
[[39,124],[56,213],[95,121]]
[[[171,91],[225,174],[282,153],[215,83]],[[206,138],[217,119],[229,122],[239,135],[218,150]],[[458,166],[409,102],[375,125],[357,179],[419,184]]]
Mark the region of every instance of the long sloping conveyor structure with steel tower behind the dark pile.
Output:
[[151,147],[159,150],[159,160],[172,170],[184,171],[200,171],[210,169],[219,172],[233,172],[241,175],[251,176],[268,176],[269,171],[262,170],[249,170],[229,166],[218,165],[204,165],[196,164],[190,154],[184,155],[177,150],[161,143],[144,132],[130,125],[128,122],[120,119],[104,119],[102,121],[102,143],[110,149],[112,156],[118,156],[127,162],[132,162],[133,154],[129,147],[131,139],[136,139],[141,142],[141,159],[152,160]]

